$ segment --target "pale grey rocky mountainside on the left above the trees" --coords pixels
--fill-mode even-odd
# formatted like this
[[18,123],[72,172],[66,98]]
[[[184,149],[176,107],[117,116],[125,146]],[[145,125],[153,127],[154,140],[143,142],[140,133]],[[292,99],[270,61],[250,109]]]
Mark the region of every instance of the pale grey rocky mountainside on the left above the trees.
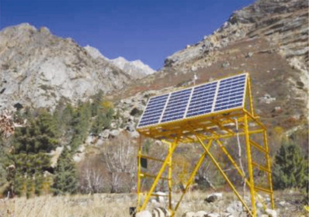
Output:
[[72,39],[23,23],[1,31],[0,109],[19,103],[53,108],[61,99],[86,100],[121,89],[132,78],[103,58],[94,59]]

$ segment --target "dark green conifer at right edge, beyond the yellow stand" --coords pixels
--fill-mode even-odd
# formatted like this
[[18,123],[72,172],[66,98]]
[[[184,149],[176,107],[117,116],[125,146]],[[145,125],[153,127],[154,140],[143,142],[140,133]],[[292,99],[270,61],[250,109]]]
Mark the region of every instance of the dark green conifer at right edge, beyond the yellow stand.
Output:
[[273,166],[273,184],[276,189],[303,188],[308,179],[307,163],[297,144],[283,141]]

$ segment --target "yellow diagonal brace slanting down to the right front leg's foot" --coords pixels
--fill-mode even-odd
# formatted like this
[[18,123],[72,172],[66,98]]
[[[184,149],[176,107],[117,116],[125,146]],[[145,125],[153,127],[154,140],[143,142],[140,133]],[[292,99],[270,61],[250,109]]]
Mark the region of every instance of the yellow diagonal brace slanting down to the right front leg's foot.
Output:
[[214,156],[209,152],[208,148],[205,146],[205,144],[203,143],[203,141],[200,139],[200,137],[198,137],[197,135],[195,135],[197,140],[200,142],[200,144],[202,145],[202,147],[204,148],[206,154],[210,157],[211,161],[214,163],[214,165],[217,167],[217,169],[220,171],[220,173],[222,174],[222,176],[224,177],[224,179],[226,180],[226,182],[229,184],[229,186],[231,187],[231,189],[233,190],[233,192],[236,194],[237,198],[239,199],[239,201],[243,204],[243,206],[246,208],[246,210],[248,211],[248,214],[250,216],[254,216],[256,217],[256,215],[253,215],[250,208],[247,206],[247,204],[244,202],[243,198],[240,196],[240,194],[238,193],[238,191],[236,190],[235,186],[233,185],[233,183],[230,181],[230,179],[227,177],[227,175],[225,174],[225,172],[222,170],[222,168],[220,167],[219,163],[216,161],[216,159],[214,158]]

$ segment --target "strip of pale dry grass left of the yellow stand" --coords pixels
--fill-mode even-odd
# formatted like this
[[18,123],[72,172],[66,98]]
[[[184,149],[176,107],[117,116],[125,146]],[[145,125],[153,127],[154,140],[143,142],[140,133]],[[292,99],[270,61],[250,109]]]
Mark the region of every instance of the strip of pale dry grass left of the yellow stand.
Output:
[[0,202],[2,217],[119,217],[129,216],[135,194],[95,194],[31,199],[14,198]]

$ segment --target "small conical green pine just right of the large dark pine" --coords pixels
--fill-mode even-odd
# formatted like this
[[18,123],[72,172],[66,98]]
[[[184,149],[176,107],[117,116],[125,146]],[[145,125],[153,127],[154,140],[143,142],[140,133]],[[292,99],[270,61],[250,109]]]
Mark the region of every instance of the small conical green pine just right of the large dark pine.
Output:
[[73,194],[78,187],[78,180],[72,153],[66,146],[61,152],[55,170],[56,176],[53,184],[54,194]]

